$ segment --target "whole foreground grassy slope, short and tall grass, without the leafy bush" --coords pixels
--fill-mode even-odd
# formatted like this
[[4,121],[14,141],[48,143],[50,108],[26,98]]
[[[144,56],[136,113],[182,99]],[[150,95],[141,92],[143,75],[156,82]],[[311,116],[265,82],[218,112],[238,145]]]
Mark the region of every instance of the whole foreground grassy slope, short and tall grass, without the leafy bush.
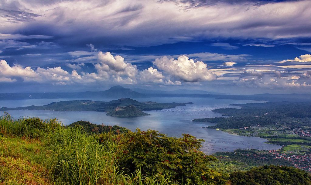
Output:
[[[0,184],[177,184],[166,177],[147,177],[118,169],[113,142],[100,144],[98,135],[63,128],[55,120],[47,131],[0,117]],[[43,128],[44,129],[44,128]]]

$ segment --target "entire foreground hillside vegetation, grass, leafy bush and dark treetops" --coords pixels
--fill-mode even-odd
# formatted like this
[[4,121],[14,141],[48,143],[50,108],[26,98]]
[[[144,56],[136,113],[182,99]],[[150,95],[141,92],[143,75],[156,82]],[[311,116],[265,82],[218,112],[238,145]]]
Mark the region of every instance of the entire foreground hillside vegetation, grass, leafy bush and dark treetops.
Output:
[[[85,121],[64,127],[56,119],[14,120],[4,114],[0,117],[0,183],[239,184],[237,178],[247,178],[244,172],[215,170],[212,165],[220,161],[201,152],[203,140],[188,134],[175,138],[154,130],[108,128],[111,131]],[[287,174],[296,177],[288,182],[310,182],[302,170],[269,168],[280,168],[285,176],[263,167],[252,171],[256,175],[248,177],[253,177],[249,182],[281,183]]]

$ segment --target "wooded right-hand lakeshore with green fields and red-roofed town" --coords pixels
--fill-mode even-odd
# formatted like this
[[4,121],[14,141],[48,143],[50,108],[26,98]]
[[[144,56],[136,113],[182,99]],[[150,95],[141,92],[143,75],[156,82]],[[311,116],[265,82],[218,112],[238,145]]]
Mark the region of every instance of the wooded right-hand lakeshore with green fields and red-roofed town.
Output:
[[277,151],[235,150],[216,153],[214,156],[224,161],[220,166],[239,164],[238,170],[249,170],[249,166],[274,164],[295,166],[311,172],[311,103],[284,101],[234,105],[242,108],[213,110],[231,117],[193,121],[216,123],[207,128],[220,128],[240,136],[258,136],[282,148]]

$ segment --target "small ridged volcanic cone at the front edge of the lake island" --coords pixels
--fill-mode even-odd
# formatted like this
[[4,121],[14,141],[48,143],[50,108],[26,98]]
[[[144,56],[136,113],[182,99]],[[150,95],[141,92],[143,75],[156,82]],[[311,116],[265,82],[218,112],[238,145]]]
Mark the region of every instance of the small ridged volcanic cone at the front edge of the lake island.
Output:
[[116,116],[116,117],[137,117],[137,116],[146,116],[150,115],[142,112],[137,109],[134,105],[129,105],[125,107],[117,107],[113,111],[107,113],[108,116]]

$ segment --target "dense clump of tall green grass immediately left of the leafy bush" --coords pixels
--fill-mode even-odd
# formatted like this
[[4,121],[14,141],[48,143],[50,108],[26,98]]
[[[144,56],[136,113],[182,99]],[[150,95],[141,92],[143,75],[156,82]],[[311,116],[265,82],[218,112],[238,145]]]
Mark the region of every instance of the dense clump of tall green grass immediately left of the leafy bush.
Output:
[[51,155],[49,174],[58,183],[109,184],[117,183],[118,167],[115,164],[116,146],[103,147],[95,136],[80,128],[60,128],[47,138]]

